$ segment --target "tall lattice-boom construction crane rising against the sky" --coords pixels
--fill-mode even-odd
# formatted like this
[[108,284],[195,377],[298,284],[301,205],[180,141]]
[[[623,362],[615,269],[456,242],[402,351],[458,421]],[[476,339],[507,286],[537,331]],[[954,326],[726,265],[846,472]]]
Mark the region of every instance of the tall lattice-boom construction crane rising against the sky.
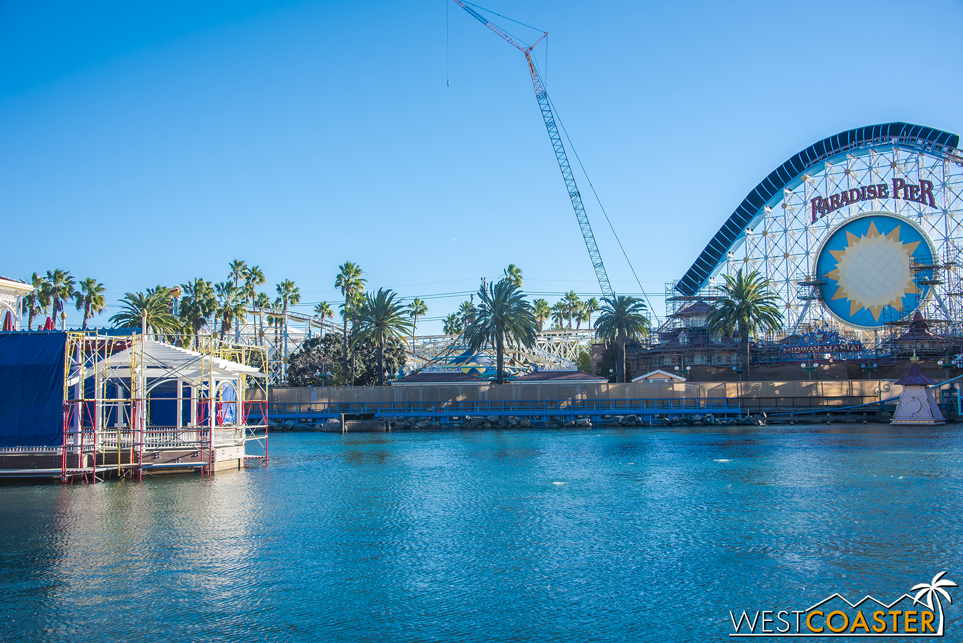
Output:
[[508,34],[499,29],[496,25],[492,24],[489,20],[485,19],[483,15],[468,7],[468,5],[461,0],[453,0],[453,2],[477,18],[485,27],[501,36],[502,39],[508,42],[508,44],[525,54],[525,60],[529,64],[529,73],[532,74],[532,85],[535,89],[535,99],[538,101],[538,107],[541,109],[542,118],[545,119],[545,128],[548,129],[548,138],[552,141],[552,147],[555,149],[555,157],[559,160],[561,178],[564,179],[565,188],[568,190],[568,196],[572,199],[572,208],[575,209],[575,218],[579,219],[579,227],[582,228],[582,237],[586,240],[586,247],[588,248],[588,257],[592,261],[592,268],[595,269],[595,276],[599,280],[599,287],[602,289],[602,296],[612,298],[612,296],[614,296],[612,284],[609,283],[609,275],[606,274],[605,265],[602,263],[602,255],[599,254],[598,245],[595,244],[595,235],[592,234],[592,226],[588,223],[586,208],[582,205],[582,194],[579,193],[579,187],[575,184],[575,176],[572,174],[572,167],[568,165],[568,155],[565,154],[565,146],[561,143],[559,127],[556,125],[555,114],[552,112],[552,103],[548,99],[548,92],[545,91],[545,86],[542,84],[541,78],[538,76],[538,72],[535,70],[535,65],[532,61],[532,50],[539,42],[548,37],[548,33],[543,33],[542,37],[537,39],[531,47],[525,47],[516,42],[515,39],[508,36]]

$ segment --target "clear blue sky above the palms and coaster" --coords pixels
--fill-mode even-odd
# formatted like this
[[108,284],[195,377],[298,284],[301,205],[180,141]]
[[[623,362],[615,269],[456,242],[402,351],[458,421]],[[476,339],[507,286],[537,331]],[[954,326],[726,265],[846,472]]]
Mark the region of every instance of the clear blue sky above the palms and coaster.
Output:
[[[664,282],[800,149],[963,130],[959,2],[481,5],[550,33],[548,90],[660,316]],[[0,2],[0,274],[93,276],[114,304],[244,259],[307,309],[351,260],[435,319],[509,263],[527,291],[598,294],[523,56],[447,11]],[[614,289],[638,293],[588,212]]]

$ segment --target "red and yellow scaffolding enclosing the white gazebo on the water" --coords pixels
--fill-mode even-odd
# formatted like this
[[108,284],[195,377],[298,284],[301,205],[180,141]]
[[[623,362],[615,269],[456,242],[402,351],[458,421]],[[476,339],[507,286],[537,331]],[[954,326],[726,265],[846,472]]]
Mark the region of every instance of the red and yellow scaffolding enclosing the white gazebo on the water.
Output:
[[[179,340],[198,349],[143,334],[66,333],[63,482],[267,465],[267,426],[248,422],[267,402],[266,378],[251,366],[266,351]],[[247,400],[254,392],[259,399]],[[247,453],[248,443],[258,452]]]

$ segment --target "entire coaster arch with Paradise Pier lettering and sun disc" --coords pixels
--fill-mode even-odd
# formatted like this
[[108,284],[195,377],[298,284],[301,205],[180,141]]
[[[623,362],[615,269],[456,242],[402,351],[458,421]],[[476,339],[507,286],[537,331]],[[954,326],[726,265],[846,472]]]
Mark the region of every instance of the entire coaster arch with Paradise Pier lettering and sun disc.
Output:
[[829,324],[867,347],[917,311],[963,329],[959,146],[905,122],[816,141],[763,177],[672,288],[716,296],[721,275],[758,270],[788,334]]

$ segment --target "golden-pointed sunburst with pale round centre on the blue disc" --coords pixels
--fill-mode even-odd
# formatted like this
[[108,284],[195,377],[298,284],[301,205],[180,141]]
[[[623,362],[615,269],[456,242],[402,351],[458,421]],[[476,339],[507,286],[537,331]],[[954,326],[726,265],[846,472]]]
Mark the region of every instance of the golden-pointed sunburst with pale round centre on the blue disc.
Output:
[[862,237],[846,231],[846,247],[829,250],[836,268],[827,275],[837,282],[832,300],[848,299],[849,315],[866,308],[875,321],[886,306],[899,306],[902,297],[917,292],[910,257],[920,242],[899,241],[899,226],[882,235],[875,222]]

